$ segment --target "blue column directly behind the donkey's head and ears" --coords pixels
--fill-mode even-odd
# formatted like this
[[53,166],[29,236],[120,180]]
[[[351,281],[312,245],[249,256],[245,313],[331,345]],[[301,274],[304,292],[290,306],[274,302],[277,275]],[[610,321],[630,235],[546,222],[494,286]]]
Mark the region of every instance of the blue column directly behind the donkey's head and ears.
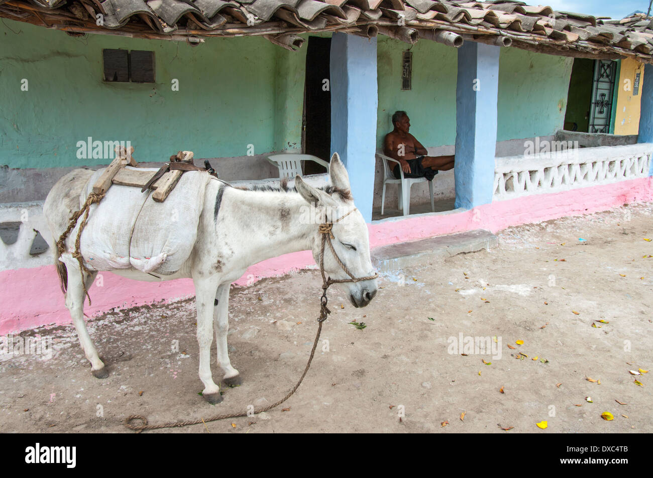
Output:
[[334,33],[330,57],[331,152],[349,173],[351,192],[372,222],[376,152],[376,38]]

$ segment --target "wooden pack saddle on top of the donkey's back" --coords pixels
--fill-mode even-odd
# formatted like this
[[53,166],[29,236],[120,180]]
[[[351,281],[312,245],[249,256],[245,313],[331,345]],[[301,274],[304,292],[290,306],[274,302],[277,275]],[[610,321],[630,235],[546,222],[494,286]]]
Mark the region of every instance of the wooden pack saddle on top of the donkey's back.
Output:
[[125,166],[138,168],[133,152],[132,146],[116,147],[116,157],[93,185],[95,194],[104,193],[112,184],[116,184],[139,187],[143,192],[151,189],[154,191],[152,199],[156,202],[164,202],[186,171],[208,171],[217,177],[217,173],[208,161],[204,161],[205,168],[193,164],[193,151],[179,151],[176,155],[172,155],[170,162],[161,166],[161,169],[154,174],[151,171],[125,168]]

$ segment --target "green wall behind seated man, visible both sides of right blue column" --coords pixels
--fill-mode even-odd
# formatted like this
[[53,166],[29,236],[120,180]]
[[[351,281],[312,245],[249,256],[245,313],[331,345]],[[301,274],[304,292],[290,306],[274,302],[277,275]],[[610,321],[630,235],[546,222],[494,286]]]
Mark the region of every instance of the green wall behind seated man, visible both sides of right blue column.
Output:
[[[411,133],[425,146],[454,144],[458,52],[419,40],[410,50],[413,89],[402,91],[402,51],[408,48],[398,40],[379,37],[377,145],[383,144],[390,130],[389,116],[396,110],[406,110]],[[573,60],[502,48],[499,62],[497,141],[548,136],[562,128]]]

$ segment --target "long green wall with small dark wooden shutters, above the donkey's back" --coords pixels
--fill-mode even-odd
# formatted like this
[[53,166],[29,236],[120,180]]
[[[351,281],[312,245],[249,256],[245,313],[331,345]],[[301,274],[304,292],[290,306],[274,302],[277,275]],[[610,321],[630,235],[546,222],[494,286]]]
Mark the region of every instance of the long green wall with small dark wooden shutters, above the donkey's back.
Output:
[[[6,25],[6,26],[5,26]],[[14,33],[15,32],[15,33]],[[39,168],[80,160],[76,143],[131,141],[139,161],[180,149],[235,157],[300,143],[305,53],[261,37],[184,42],[88,35],[0,24],[0,164]],[[155,52],[156,83],[105,83],[103,48]],[[21,80],[28,91],[21,91]],[[179,91],[171,81],[179,80]]]

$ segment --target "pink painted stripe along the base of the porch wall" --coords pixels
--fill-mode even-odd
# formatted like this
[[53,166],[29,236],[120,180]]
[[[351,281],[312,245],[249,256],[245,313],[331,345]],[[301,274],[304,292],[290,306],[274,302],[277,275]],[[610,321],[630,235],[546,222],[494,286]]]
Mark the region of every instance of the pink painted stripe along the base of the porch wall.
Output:
[[[375,222],[368,224],[370,245],[374,248],[475,229],[497,232],[518,224],[595,213],[624,203],[648,201],[653,201],[653,177],[554,194],[524,196],[460,213]],[[259,278],[283,275],[314,264],[308,250],[285,254],[253,265],[236,283],[251,284]],[[155,301],[174,301],[195,293],[190,279],[140,282],[104,274],[103,282],[103,287],[99,287],[96,280],[89,291],[93,305],[85,308],[88,316],[101,314],[116,306],[125,308]],[[71,322],[54,266],[0,272],[0,301],[0,335],[40,325]]]

